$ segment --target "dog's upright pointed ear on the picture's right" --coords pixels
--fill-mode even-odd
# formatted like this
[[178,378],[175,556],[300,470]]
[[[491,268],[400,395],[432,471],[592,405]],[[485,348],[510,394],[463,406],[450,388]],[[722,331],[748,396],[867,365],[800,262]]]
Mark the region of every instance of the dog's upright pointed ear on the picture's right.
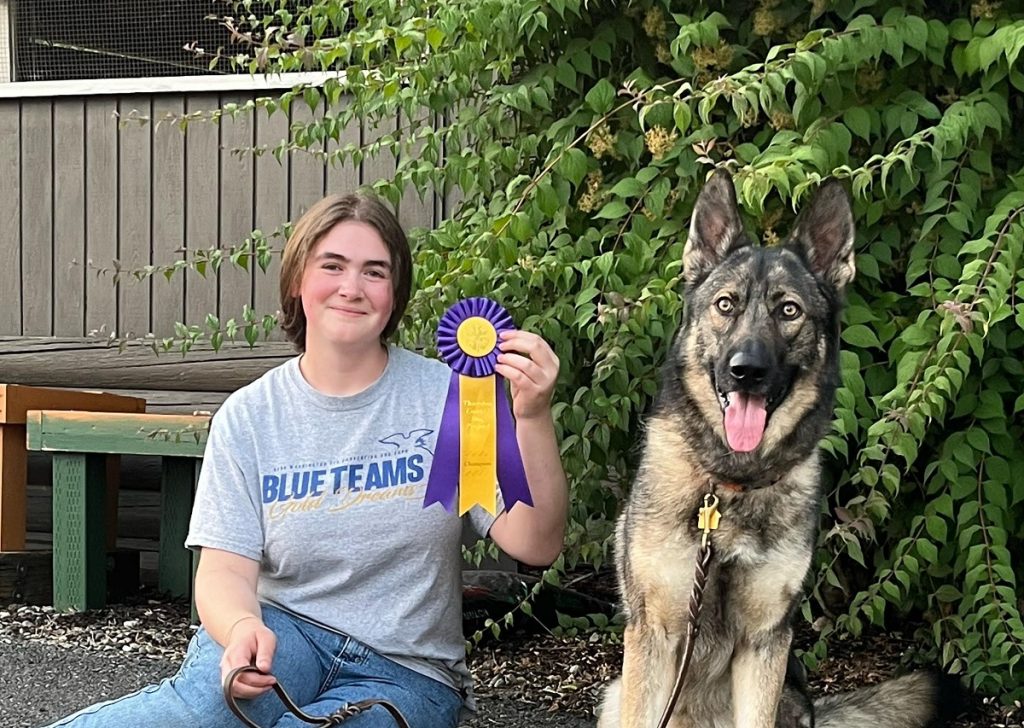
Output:
[[815,275],[842,293],[856,272],[853,238],[850,196],[839,180],[829,179],[797,218],[787,246],[807,260]]

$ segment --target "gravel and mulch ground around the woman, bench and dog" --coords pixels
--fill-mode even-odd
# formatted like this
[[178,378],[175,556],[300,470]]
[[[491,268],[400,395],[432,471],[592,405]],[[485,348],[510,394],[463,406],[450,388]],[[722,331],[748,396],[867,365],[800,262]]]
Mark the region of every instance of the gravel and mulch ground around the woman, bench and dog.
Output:
[[[171,675],[193,634],[183,604],[159,601],[83,614],[0,606],[0,726],[43,726],[79,708]],[[838,643],[814,692],[837,692],[892,675],[912,649],[899,633]],[[470,657],[479,716],[465,728],[591,728],[601,685],[622,648],[592,639],[522,635]],[[977,700],[952,728],[1024,728],[1024,709]]]

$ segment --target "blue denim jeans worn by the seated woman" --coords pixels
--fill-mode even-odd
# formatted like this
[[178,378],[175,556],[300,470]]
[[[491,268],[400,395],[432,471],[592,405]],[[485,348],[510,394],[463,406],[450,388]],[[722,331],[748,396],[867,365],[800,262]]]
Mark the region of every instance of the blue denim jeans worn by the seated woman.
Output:
[[[272,673],[304,713],[327,716],[367,698],[393,702],[411,728],[458,725],[462,697],[443,683],[384,657],[361,642],[324,630],[263,604],[263,623],[278,638]],[[188,644],[177,674],[157,685],[101,702],[57,721],[70,728],[244,728],[224,702],[220,687],[223,648],[206,630]],[[308,728],[273,691],[239,706],[265,728]],[[344,728],[394,728],[379,705],[344,722]]]

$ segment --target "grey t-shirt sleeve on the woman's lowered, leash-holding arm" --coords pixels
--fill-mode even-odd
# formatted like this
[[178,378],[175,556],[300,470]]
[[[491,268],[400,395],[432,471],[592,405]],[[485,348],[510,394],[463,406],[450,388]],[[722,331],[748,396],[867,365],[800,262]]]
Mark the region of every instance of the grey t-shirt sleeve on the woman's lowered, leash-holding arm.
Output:
[[263,511],[252,439],[229,401],[214,416],[203,455],[185,546],[260,561]]

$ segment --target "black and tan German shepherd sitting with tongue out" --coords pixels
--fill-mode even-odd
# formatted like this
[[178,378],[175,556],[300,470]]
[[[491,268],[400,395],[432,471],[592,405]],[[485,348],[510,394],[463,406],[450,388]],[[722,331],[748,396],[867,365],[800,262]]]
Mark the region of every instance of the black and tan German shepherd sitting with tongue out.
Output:
[[712,489],[721,524],[672,728],[924,728],[951,717],[940,704],[956,692],[945,689],[951,678],[913,673],[812,702],[791,656],[853,239],[850,200],[836,181],[771,248],[744,232],[727,173],[700,191],[683,251],[683,324],[616,527],[625,656],[598,728],[655,728],[669,702],[701,539],[697,512]]

